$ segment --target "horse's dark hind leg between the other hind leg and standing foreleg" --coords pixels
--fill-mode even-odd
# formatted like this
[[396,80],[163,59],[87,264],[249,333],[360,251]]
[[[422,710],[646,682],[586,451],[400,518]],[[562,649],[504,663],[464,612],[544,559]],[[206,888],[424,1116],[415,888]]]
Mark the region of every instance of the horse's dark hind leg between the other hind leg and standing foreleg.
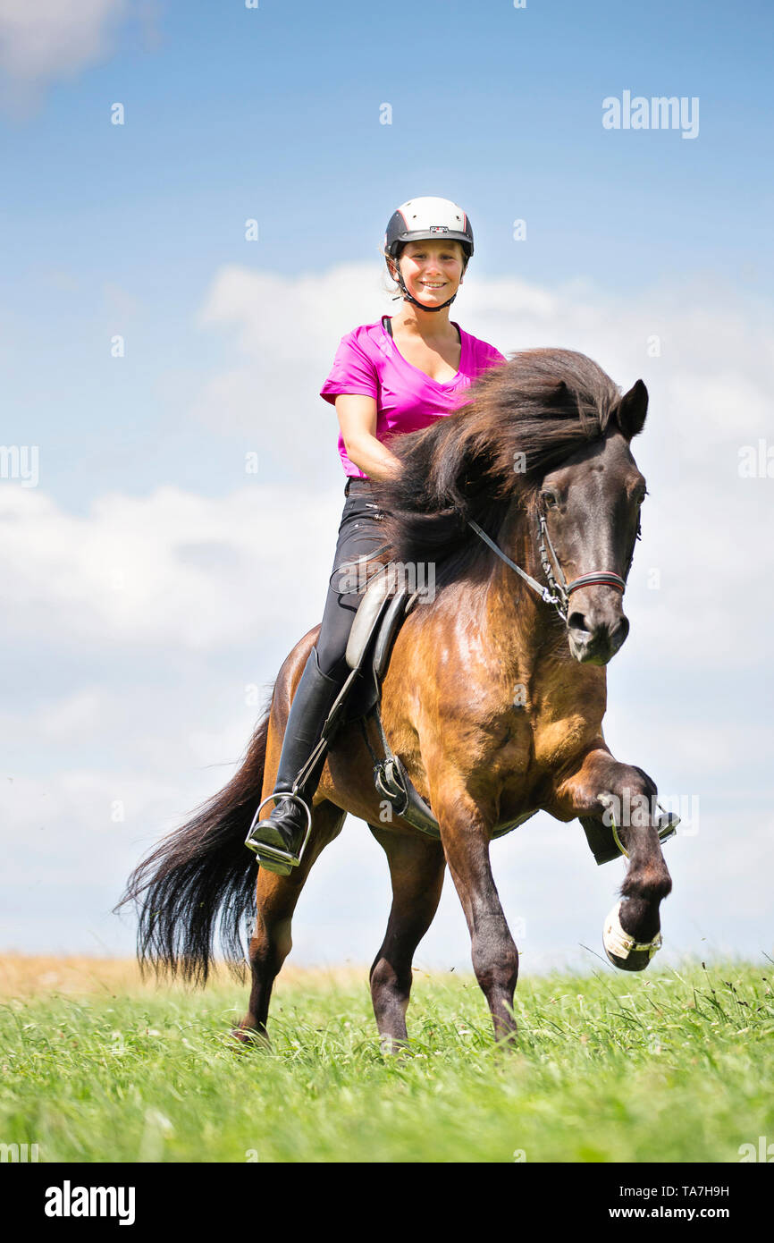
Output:
[[407,1040],[411,962],[439,906],[445,859],[441,843],[431,838],[375,824],[369,828],[384,848],[393,881],[390,919],[370,970],[370,986],[383,1048],[394,1053]]

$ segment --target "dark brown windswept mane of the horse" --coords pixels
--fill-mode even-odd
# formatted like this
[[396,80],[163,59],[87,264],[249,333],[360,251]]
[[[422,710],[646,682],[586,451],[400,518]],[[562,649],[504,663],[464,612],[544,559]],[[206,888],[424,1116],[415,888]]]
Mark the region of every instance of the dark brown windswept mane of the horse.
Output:
[[571,349],[527,349],[485,372],[465,405],[430,428],[395,438],[396,479],[374,480],[391,561],[435,562],[436,585],[460,577],[496,536],[517,500],[585,441],[603,438],[621,400],[601,367]]

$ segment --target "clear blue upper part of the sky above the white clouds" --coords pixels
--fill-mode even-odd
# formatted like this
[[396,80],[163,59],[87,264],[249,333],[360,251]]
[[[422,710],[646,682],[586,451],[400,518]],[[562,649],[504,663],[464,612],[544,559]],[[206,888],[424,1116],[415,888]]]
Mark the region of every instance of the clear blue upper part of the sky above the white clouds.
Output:
[[[214,268],[373,260],[391,209],[416,194],[466,206],[477,275],[632,300],[676,275],[770,285],[767,5],[743,20],[726,4],[504,0],[398,2],[389,20],[354,2],[144,11],[129,5],[112,55],[41,83],[32,114],[4,124],[9,436],[46,438],[48,484],[70,505],[101,482],[169,477],[132,452],[147,457],[143,434],[178,440],[185,413],[165,377],[179,394],[179,373],[193,387],[227,359],[191,322]],[[698,138],[604,131],[601,101],[624,89],[698,97]],[[122,329],[117,368],[106,341]],[[121,462],[117,424],[134,429]],[[227,452],[210,447],[205,474],[180,445],[174,470],[219,491]]]

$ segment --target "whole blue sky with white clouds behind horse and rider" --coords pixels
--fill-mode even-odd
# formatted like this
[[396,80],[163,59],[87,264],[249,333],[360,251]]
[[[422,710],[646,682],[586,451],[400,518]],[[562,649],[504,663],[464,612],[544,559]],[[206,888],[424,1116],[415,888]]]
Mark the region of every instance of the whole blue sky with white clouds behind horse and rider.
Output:
[[[617,383],[649,384],[651,511],[608,736],[662,788],[702,794],[706,835],[670,848],[693,902],[673,900],[680,946],[696,929],[770,946],[774,482],[740,480],[737,461],[772,435],[773,26],[754,2],[9,0],[2,440],[40,447],[40,484],[0,481],[5,797],[25,827],[6,829],[17,870],[0,942],[129,947],[106,914],[128,866],[229,776],[256,715],[245,687],[271,682],[318,620],[343,482],[318,390],[340,334],[396,307],[378,259],[389,215],[437,194],[473,222],[453,308],[470,332],[506,353],[581,348]],[[624,91],[697,97],[698,135],[605,131],[603,99]],[[104,813],[116,799],[121,827]],[[750,840],[726,909],[737,824]],[[578,926],[535,937],[560,956],[596,936],[579,929],[612,890],[583,842],[567,854],[568,830],[544,832],[545,850],[498,844],[498,881],[517,912],[547,895],[530,899],[533,927],[585,869]],[[557,843],[555,889],[540,889]],[[368,953],[378,943],[384,866],[360,838],[353,850],[319,865],[297,938],[308,961],[345,956],[353,927]],[[362,914],[321,945],[326,895],[353,884]],[[432,953],[463,962],[444,901]]]

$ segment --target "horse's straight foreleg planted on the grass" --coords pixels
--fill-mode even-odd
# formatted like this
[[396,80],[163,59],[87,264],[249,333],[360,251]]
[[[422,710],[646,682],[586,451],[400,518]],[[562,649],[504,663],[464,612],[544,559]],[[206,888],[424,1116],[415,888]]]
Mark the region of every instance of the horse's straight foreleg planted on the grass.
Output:
[[473,971],[492,1012],[496,1039],[516,1033],[513,993],[518,950],[499,902],[489,864],[485,813],[453,778],[430,777],[432,808],[441,827],[446,863],[471,935]]

